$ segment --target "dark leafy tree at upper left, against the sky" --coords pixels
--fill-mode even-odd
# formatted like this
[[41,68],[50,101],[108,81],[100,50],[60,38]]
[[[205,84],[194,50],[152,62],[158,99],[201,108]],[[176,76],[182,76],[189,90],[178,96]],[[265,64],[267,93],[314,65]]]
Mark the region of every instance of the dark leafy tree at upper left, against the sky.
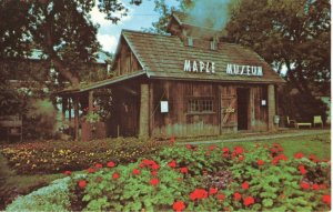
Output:
[[[141,1],[131,0],[140,4]],[[78,87],[80,63],[95,60],[100,44],[90,17],[98,6],[117,23],[127,8],[118,0],[2,0],[0,2],[0,59],[28,57],[40,49],[62,78]]]

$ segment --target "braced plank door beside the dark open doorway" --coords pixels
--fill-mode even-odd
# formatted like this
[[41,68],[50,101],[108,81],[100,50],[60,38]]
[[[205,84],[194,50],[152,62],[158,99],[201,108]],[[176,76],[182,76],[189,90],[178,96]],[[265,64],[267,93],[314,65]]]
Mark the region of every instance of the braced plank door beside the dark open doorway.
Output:
[[220,87],[221,93],[221,131],[238,129],[238,97],[234,87]]

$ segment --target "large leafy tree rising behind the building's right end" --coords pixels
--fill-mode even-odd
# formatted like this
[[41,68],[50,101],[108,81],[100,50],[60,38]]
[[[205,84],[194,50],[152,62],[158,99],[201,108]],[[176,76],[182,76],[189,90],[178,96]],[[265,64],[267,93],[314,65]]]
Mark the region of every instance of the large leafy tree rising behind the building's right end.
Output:
[[[228,40],[250,47],[301,93],[331,79],[329,0],[240,0],[231,8]],[[325,83],[322,83],[324,87]]]

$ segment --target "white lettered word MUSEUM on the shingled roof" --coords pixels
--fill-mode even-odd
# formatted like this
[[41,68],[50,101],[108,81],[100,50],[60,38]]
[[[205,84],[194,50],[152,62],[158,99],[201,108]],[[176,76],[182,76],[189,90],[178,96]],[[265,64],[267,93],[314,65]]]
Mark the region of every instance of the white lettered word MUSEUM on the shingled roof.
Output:
[[232,75],[263,75],[262,67],[243,64],[226,64],[225,72]]

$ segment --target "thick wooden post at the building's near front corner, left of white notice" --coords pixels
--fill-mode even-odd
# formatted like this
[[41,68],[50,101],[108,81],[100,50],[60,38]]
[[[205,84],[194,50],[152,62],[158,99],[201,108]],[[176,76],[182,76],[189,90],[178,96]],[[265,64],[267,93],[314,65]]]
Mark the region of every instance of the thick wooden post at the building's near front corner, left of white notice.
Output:
[[149,137],[149,85],[141,84],[139,138]]

